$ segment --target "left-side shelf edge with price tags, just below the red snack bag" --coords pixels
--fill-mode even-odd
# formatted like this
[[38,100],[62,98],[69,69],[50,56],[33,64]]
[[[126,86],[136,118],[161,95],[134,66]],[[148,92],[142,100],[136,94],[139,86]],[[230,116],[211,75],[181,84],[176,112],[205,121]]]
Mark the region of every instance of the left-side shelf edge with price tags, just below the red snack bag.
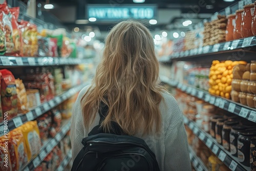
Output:
[[82,90],[88,84],[89,84],[89,82],[82,83],[79,86],[71,88],[68,91],[54,97],[53,99],[42,103],[41,105],[37,106],[35,109],[29,111],[26,114],[18,115],[16,117],[8,120],[7,123],[4,123],[4,122],[0,123],[0,137],[4,135],[4,126],[5,126],[5,124],[8,125],[8,130],[12,131],[16,127],[19,127],[20,125],[22,125],[22,124],[24,124],[28,121],[31,121],[31,120],[41,116],[45,112],[53,109],[55,106],[59,105],[63,101],[67,100],[68,98],[70,98],[73,95],[75,95],[76,93],[78,93],[80,90]]

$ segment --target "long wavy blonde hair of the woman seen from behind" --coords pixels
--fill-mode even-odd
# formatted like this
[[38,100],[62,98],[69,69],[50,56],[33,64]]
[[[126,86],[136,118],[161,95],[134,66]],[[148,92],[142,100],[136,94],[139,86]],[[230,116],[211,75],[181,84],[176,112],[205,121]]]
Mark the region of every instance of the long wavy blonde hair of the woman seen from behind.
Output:
[[105,38],[103,59],[92,86],[81,99],[86,128],[95,120],[100,102],[109,107],[101,123],[105,131],[117,122],[123,132],[135,135],[158,132],[161,126],[159,105],[163,99],[159,63],[150,31],[135,20],[114,26]]

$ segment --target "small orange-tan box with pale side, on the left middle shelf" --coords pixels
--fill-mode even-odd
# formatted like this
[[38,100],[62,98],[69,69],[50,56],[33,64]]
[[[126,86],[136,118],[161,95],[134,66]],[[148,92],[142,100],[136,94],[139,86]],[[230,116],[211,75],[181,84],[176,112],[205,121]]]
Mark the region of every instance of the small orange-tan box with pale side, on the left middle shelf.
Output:
[[26,90],[28,99],[28,108],[30,110],[34,109],[36,106],[41,104],[39,91],[36,89]]

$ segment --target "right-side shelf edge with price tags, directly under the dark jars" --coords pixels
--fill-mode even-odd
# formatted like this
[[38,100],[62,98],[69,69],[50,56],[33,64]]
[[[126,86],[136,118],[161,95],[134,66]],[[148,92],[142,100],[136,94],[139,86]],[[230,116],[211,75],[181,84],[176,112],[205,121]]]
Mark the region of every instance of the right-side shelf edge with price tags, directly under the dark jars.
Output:
[[202,140],[205,145],[232,171],[250,170],[250,167],[242,165],[237,157],[233,157],[222,145],[220,145],[214,138],[204,132],[195,122],[188,120],[185,116],[184,123],[189,127],[193,133]]

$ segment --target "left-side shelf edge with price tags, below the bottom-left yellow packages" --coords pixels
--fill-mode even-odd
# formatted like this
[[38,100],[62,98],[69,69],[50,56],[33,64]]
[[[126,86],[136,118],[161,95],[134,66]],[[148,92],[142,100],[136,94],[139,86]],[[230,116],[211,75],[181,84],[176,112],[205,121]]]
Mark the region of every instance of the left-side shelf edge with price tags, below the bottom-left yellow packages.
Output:
[[53,148],[60,142],[60,140],[68,133],[71,126],[71,120],[64,121],[62,123],[62,127],[60,131],[56,134],[56,136],[48,141],[46,145],[44,145],[39,154],[29,161],[29,163],[22,169],[24,171],[34,170],[39,164],[44,161],[46,156],[53,150]]

